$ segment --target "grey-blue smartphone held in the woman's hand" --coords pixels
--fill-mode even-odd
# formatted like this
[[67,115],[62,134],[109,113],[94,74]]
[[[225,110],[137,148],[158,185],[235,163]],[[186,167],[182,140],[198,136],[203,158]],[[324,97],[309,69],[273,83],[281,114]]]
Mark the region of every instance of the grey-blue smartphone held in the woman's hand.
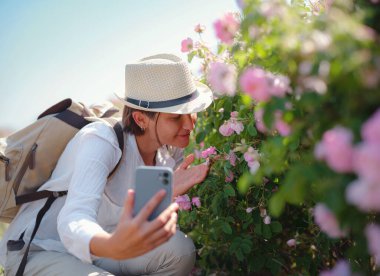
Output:
[[154,220],[172,202],[173,170],[168,167],[140,166],[135,175],[135,206],[133,216],[161,189],[166,191],[165,197],[153,210],[148,220]]

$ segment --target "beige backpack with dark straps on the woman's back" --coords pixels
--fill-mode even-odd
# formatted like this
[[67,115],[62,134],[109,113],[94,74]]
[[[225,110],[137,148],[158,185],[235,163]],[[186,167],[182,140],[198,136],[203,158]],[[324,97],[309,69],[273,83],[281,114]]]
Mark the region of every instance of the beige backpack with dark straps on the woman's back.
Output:
[[[116,112],[113,107],[87,108],[66,99],[43,112],[33,124],[0,138],[0,221],[11,222],[21,204],[54,194],[37,189],[50,178],[67,143],[85,125],[94,121],[111,124],[123,150],[122,127],[112,118]],[[61,196],[66,192],[55,193]]]

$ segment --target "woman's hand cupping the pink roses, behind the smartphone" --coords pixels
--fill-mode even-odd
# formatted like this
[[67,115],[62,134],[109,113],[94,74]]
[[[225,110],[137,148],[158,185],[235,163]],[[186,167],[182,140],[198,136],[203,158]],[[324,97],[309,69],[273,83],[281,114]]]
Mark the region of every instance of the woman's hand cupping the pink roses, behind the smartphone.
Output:
[[174,172],[173,197],[185,194],[194,185],[201,183],[206,178],[210,167],[204,163],[189,168],[193,162],[194,154],[190,154]]

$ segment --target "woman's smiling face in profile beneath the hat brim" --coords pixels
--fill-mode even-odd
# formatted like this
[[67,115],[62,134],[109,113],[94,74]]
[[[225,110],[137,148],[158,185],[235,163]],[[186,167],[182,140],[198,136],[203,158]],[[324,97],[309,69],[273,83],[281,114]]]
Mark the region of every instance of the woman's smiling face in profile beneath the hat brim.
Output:
[[[158,115],[158,114],[157,114]],[[184,148],[189,144],[190,133],[194,129],[197,114],[169,114],[160,113],[150,120],[149,134],[154,139],[157,121],[157,135],[163,145]]]

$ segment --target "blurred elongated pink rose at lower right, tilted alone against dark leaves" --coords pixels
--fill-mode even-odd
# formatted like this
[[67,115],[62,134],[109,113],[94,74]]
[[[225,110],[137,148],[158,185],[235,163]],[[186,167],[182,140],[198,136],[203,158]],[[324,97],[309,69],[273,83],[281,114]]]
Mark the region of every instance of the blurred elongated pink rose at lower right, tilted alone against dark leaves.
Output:
[[335,215],[323,203],[318,203],[314,207],[314,220],[319,228],[331,238],[340,238],[345,235]]

